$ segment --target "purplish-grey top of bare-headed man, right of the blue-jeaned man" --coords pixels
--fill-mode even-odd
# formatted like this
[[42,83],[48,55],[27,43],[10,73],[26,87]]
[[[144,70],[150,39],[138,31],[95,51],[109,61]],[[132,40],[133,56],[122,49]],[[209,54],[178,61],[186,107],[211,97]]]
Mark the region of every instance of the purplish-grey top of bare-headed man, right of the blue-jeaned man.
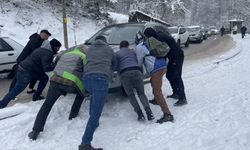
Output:
[[136,53],[132,49],[121,48],[118,52],[116,52],[116,60],[117,60],[117,70],[119,72],[131,67],[139,68]]

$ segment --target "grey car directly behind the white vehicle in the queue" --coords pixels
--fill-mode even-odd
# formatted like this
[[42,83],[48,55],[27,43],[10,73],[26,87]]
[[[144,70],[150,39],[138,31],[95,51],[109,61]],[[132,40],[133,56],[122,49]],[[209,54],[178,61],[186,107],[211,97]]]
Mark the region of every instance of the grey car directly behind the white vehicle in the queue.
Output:
[[187,30],[189,32],[189,40],[190,42],[199,42],[203,41],[203,34],[201,32],[200,26],[188,26]]

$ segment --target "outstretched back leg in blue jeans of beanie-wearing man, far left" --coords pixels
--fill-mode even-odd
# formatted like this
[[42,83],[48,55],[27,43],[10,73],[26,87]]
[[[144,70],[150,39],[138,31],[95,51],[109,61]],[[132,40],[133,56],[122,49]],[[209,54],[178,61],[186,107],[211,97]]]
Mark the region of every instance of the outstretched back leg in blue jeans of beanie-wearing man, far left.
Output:
[[0,101],[0,108],[4,108],[8,103],[20,94],[30,82],[30,73],[22,68],[18,68],[16,75],[16,84],[8,94]]

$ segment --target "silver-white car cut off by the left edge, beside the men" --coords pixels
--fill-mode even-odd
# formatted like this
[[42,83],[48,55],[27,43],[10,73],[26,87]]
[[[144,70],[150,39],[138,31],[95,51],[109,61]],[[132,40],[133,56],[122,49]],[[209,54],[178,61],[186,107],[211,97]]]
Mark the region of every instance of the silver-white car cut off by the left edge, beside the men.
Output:
[[[16,59],[23,50],[23,46],[11,38],[0,37],[0,73],[14,71]],[[12,72],[13,73],[13,72]]]

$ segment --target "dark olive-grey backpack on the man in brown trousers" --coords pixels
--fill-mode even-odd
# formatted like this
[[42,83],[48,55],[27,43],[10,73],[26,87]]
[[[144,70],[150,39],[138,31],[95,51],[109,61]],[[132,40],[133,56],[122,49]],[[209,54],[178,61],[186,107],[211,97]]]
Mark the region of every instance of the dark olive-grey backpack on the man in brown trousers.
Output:
[[147,38],[145,44],[149,50],[149,54],[154,57],[166,57],[170,51],[167,43],[161,42],[154,37]]

